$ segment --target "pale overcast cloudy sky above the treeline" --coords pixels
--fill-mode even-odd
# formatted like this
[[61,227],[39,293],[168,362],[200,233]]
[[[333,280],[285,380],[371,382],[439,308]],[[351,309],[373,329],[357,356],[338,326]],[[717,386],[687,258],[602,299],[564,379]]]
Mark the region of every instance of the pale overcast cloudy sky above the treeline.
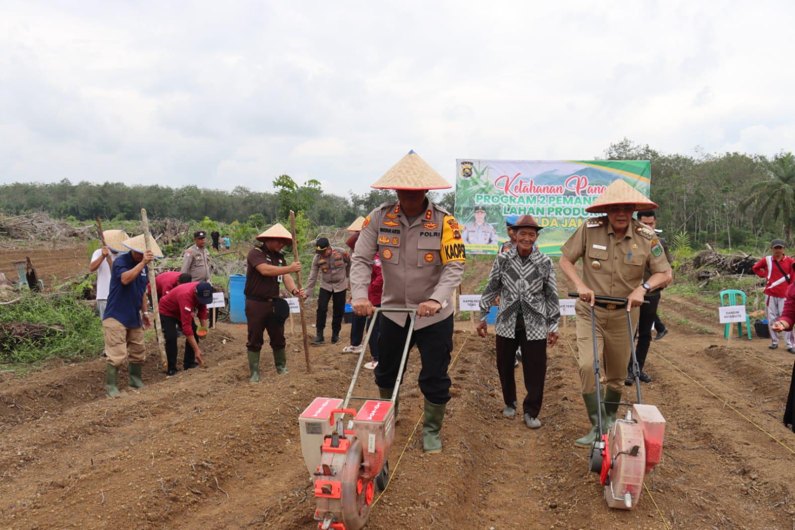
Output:
[[0,183],[795,144],[795,2],[3,2]]

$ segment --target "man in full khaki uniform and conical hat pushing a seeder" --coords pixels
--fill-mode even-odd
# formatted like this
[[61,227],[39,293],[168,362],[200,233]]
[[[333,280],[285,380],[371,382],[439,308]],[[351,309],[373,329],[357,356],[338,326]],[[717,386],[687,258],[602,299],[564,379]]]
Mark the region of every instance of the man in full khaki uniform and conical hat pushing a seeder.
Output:
[[[626,366],[631,353],[632,337],[626,323],[630,311],[633,327],[638,323],[638,307],[643,296],[667,284],[671,267],[665,259],[660,240],[654,230],[632,219],[633,211],[656,208],[640,192],[623,180],[615,180],[586,208],[591,213],[607,216],[586,219],[561,247],[560,270],[576,285],[580,300],[576,304],[577,349],[580,356],[580,390],[591,420],[591,431],[575,441],[579,447],[591,447],[597,438],[596,381],[593,372],[593,339],[591,311],[594,307],[596,344],[607,381],[603,401],[603,428],[615,423],[626,379]],[[583,258],[583,277],[577,276],[574,263]],[[644,283],[643,271],[652,273]],[[628,298],[629,304],[605,304],[594,295]]]

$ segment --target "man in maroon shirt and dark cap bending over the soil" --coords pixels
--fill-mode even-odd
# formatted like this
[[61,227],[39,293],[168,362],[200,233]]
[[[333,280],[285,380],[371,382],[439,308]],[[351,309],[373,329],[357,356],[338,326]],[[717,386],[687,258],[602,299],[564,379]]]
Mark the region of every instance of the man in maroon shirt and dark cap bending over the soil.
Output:
[[169,361],[167,372],[169,376],[176,375],[176,331],[180,327],[185,335],[183,369],[204,364],[199,343],[196,342],[194,335],[196,322],[193,320],[193,313],[196,311],[201,325],[207,327],[207,304],[211,303],[212,285],[206,281],[177,285],[160,301],[160,323],[165,338],[165,357]]

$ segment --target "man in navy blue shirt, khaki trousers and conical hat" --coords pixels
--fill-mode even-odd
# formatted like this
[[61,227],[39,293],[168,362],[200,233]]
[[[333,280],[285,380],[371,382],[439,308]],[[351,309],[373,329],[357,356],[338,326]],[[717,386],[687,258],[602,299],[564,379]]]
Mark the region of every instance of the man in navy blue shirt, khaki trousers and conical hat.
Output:
[[[130,387],[142,389],[143,363],[146,360],[144,330],[152,327],[149,322],[146,285],[149,284],[146,265],[160,250],[149,236],[153,250],[144,250],[142,235],[122,242],[130,252],[121,254],[113,262],[111,270],[111,289],[107,296],[107,306],[103,315],[102,327],[105,335],[107,366],[105,387],[107,395],[118,396],[116,386],[119,367],[124,365],[128,354],[130,365]],[[139,313],[142,311],[142,315]]]

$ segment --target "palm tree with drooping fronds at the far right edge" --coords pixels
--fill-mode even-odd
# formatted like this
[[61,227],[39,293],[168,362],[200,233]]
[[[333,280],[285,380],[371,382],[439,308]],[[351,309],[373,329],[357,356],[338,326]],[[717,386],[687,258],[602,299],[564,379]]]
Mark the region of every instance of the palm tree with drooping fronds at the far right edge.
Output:
[[769,178],[756,184],[746,199],[740,202],[743,211],[754,207],[756,222],[783,222],[787,242],[792,242],[793,214],[795,214],[795,156],[778,153],[772,161],[765,160]]

